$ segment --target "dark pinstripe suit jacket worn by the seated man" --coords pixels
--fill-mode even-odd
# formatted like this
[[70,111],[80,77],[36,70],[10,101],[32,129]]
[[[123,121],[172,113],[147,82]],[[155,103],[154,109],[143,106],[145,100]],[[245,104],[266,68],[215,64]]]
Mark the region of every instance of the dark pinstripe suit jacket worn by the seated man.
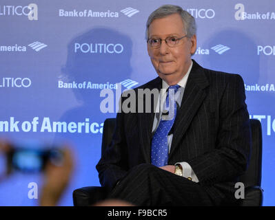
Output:
[[[134,91],[161,89],[161,82],[158,77]],[[137,102],[141,97],[136,97]],[[112,144],[96,165],[102,186],[112,188],[130,168],[150,163],[153,120],[154,112],[117,114]],[[251,145],[241,76],[204,69],[193,61],[173,131],[168,164],[187,162],[212,197],[234,197]]]

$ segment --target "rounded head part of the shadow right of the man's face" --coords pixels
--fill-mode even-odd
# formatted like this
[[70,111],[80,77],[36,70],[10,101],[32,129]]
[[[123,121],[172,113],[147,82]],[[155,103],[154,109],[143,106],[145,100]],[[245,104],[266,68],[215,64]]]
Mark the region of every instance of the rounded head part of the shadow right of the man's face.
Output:
[[259,56],[256,53],[256,43],[251,37],[239,30],[228,29],[215,33],[203,48],[213,48],[216,45],[229,47],[224,52],[214,52],[207,56],[210,68],[243,76],[245,83],[258,81]]

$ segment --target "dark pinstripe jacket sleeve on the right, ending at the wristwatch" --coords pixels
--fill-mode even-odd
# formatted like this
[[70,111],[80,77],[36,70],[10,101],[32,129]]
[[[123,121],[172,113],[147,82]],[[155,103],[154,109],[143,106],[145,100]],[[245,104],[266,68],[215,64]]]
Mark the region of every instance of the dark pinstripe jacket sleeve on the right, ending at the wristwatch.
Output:
[[218,107],[215,149],[187,161],[201,184],[236,179],[245,172],[249,161],[251,131],[243,79],[231,75],[227,80]]

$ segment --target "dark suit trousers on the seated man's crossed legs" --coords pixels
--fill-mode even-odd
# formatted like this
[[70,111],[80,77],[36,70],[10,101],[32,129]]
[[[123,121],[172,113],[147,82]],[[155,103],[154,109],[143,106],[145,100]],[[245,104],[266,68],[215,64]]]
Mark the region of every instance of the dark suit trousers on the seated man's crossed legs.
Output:
[[130,169],[110,193],[136,206],[215,206],[199,183],[152,164]]

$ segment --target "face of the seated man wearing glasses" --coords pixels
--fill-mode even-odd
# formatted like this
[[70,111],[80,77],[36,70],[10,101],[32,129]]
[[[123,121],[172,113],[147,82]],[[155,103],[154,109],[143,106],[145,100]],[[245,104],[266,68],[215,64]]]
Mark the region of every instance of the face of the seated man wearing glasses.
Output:
[[[149,39],[166,39],[168,36],[185,36],[184,24],[179,14],[155,19],[149,26]],[[183,78],[191,65],[191,54],[196,52],[196,36],[184,37],[176,47],[169,47],[161,41],[159,48],[147,44],[148,54],[159,77],[169,85],[175,85]]]

